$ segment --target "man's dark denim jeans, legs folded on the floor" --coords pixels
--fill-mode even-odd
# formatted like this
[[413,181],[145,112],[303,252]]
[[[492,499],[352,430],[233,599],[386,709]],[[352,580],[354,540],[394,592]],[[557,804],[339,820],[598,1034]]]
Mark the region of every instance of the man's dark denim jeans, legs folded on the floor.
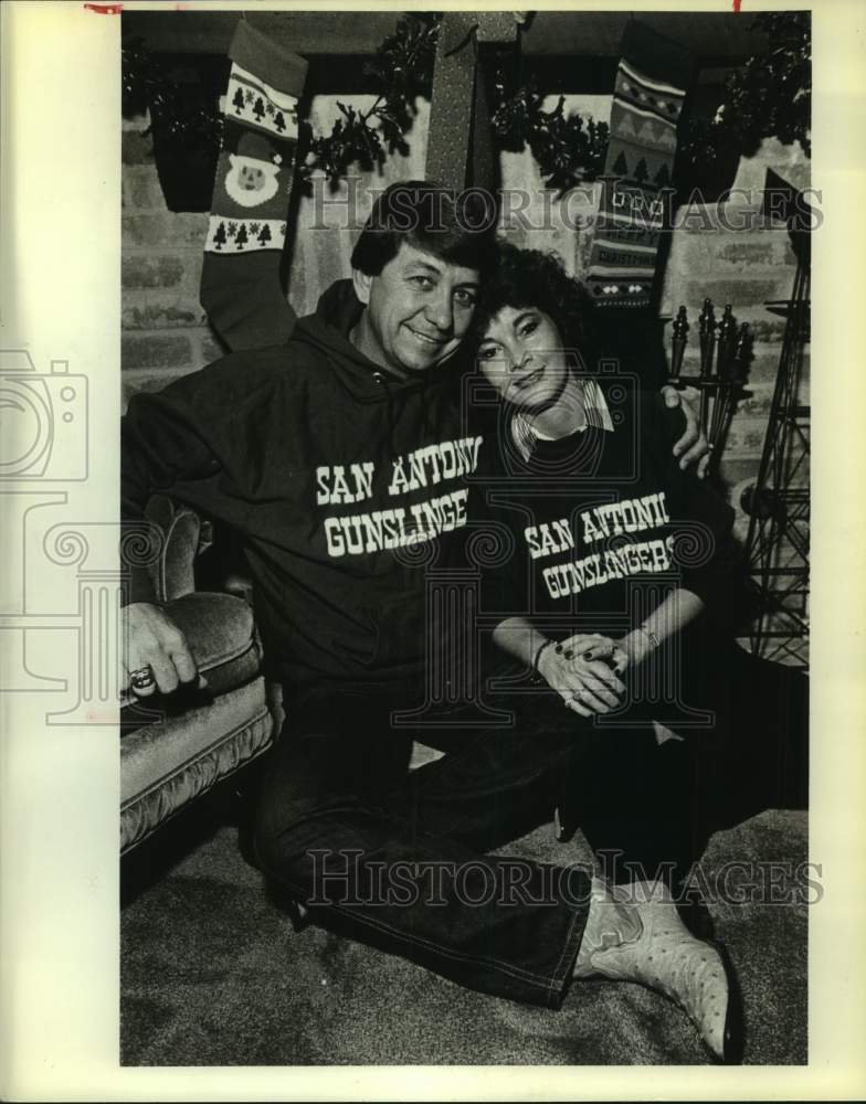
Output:
[[[589,872],[485,852],[549,821],[581,778],[579,799],[602,793],[599,782],[606,795],[587,798],[599,843],[620,846],[601,815],[619,808],[612,822],[622,824],[615,778],[588,757],[608,749],[622,776],[625,745],[636,744],[625,733],[601,739],[556,696],[534,694],[515,728],[464,731],[454,751],[408,774],[411,740],[435,742],[392,729],[392,711],[412,704],[370,686],[321,687],[293,703],[265,773],[260,864],[323,926],[471,988],[559,1007]],[[645,779],[642,766],[636,776]]]

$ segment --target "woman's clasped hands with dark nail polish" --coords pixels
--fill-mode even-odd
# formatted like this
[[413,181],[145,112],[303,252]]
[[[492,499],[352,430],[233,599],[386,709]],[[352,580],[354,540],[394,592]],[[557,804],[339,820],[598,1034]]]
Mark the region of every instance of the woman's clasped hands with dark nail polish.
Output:
[[[578,655],[566,647],[575,640],[584,641],[583,650]],[[619,696],[625,693],[625,686],[610,662],[587,656],[606,655],[609,659],[619,661],[619,652],[615,641],[608,637],[570,637],[568,641],[543,649],[538,658],[538,673],[551,690],[557,691],[568,709],[581,716],[610,713],[620,707]]]

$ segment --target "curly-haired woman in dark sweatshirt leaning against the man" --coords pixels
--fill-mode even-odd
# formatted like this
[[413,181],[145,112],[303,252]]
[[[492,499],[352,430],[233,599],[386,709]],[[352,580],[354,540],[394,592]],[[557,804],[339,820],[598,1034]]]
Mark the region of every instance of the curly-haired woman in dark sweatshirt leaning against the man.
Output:
[[511,554],[486,578],[484,612],[499,617],[499,684],[521,723],[571,725],[585,749],[560,814],[613,859],[609,882],[640,862],[655,892],[704,840],[693,753],[718,736],[739,558],[732,511],[672,456],[679,412],[621,370],[587,371],[588,315],[558,261],[500,246],[473,325],[501,400],[486,489]]

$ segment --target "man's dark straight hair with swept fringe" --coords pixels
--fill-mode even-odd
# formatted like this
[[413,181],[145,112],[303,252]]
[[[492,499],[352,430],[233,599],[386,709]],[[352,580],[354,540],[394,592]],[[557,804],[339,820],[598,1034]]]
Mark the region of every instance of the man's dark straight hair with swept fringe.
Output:
[[484,279],[496,263],[496,205],[479,189],[455,194],[435,181],[391,184],[373,203],[351,255],[352,268],[378,276],[403,242]]

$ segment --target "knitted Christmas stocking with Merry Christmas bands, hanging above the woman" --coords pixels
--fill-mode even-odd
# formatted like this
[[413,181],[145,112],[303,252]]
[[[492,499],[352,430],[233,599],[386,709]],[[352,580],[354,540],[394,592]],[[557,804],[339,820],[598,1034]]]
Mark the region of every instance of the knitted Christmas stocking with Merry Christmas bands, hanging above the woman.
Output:
[[[690,55],[641,23],[629,23],[611,105],[599,220],[587,284],[602,307],[646,307],[664,226],[677,123]],[[610,179],[613,178],[613,179]]]

